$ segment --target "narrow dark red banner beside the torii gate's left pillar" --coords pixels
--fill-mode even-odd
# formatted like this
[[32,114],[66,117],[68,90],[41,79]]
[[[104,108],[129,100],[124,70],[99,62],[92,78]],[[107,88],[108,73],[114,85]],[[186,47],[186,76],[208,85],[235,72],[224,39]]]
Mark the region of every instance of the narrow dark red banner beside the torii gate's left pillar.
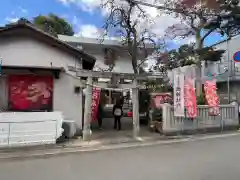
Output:
[[101,95],[101,88],[94,87],[92,91],[92,121],[97,120],[100,95]]

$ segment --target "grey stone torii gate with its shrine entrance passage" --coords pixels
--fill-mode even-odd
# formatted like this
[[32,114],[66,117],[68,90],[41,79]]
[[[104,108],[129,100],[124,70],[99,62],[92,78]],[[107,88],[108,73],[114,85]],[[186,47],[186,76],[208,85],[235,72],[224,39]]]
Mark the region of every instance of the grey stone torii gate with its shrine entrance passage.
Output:
[[[122,127],[125,130],[119,132],[119,134],[127,134],[127,136],[133,138],[137,138],[141,135],[139,114],[139,89],[144,87],[139,85],[138,81],[144,81],[148,78],[162,78],[162,75],[152,73],[136,75],[129,73],[86,71],[82,69],[76,69],[75,67],[69,67],[69,70],[76,72],[76,76],[79,78],[79,84],[81,89],[80,91],[82,92],[84,90],[85,100],[83,118],[83,140],[93,139],[96,134],[95,132],[99,133],[100,131],[96,130],[98,127],[98,121],[92,121],[93,114],[97,109],[98,103],[100,102],[100,96],[108,96],[106,98],[106,102],[111,101],[111,104],[107,104],[105,102],[105,113],[103,118],[103,128],[105,128],[105,130],[100,131],[100,134],[108,134],[107,132],[109,132],[108,136],[111,136],[111,132],[114,131],[112,108],[116,99],[115,97],[129,95],[130,98],[128,99],[128,101],[123,98],[124,117],[122,118]],[[87,78],[87,80],[83,80],[83,78]],[[109,79],[109,81],[101,82],[101,78]],[[96,92],[98,93],[96,94]],[[129,115],[129,113],[131,115]],[[116,134],[116,131],[114,132]]]

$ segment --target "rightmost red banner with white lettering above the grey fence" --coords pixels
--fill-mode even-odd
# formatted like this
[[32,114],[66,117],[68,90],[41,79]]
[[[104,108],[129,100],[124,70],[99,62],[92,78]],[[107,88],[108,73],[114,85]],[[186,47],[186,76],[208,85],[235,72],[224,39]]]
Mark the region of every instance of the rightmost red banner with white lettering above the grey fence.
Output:
[[209,114],[217,116],[220,113],[219,98],[217,95],[216,80],[206,81],[204,84],[205,97],[209,106]]

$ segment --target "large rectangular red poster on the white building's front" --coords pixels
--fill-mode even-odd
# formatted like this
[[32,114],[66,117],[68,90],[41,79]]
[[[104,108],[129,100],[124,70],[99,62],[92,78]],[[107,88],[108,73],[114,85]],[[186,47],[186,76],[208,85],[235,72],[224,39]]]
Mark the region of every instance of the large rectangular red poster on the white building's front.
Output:
[[15,111],[51,111],[53,77],[11,75],[8,77],[9,109]]

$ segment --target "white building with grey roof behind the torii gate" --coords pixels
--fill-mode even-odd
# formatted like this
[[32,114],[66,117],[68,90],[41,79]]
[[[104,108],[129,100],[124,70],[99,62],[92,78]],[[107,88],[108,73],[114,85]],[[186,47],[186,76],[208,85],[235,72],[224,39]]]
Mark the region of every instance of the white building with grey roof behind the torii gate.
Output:
[[[109,65],[114,63],[114,67],[111,70],[112,72],[117,73],[134,73],[132,68],[131,56],[129,55],[127,46],[122,45],[122,43],[118,40],[110,40],[110,39],[98,39],[98,38],[86,38],[86,37],[75,37],[75,36],[66,36],[66,35],[58,35],[58,38],[71,46],[74,46],[84,52],[87,52],[94,57],[96,57],[96,63],[94,66],[94,70],[96,71],[108,71]],[[152,44],[146,44],[148,54],[152,53],[154,48]],[[108,52],[112,54],[108,54]],[[111,56],[115,58],[111,59]],[[137,58],[139,62],[142,62],[145,57],[141,48],[139,48],[139,53]],[[108,59],[110,59],[110,63],[108,63]],[[142,63],[144,66],[144,63]],[[98,81],[108,82],[109,79],[99,78]],[[127,80],[125,80],[127,82]],[[106,91],[108,96],[108,104],[114,103],[114,96],[118,96],[118,93],[114,93],[113,91]]]

